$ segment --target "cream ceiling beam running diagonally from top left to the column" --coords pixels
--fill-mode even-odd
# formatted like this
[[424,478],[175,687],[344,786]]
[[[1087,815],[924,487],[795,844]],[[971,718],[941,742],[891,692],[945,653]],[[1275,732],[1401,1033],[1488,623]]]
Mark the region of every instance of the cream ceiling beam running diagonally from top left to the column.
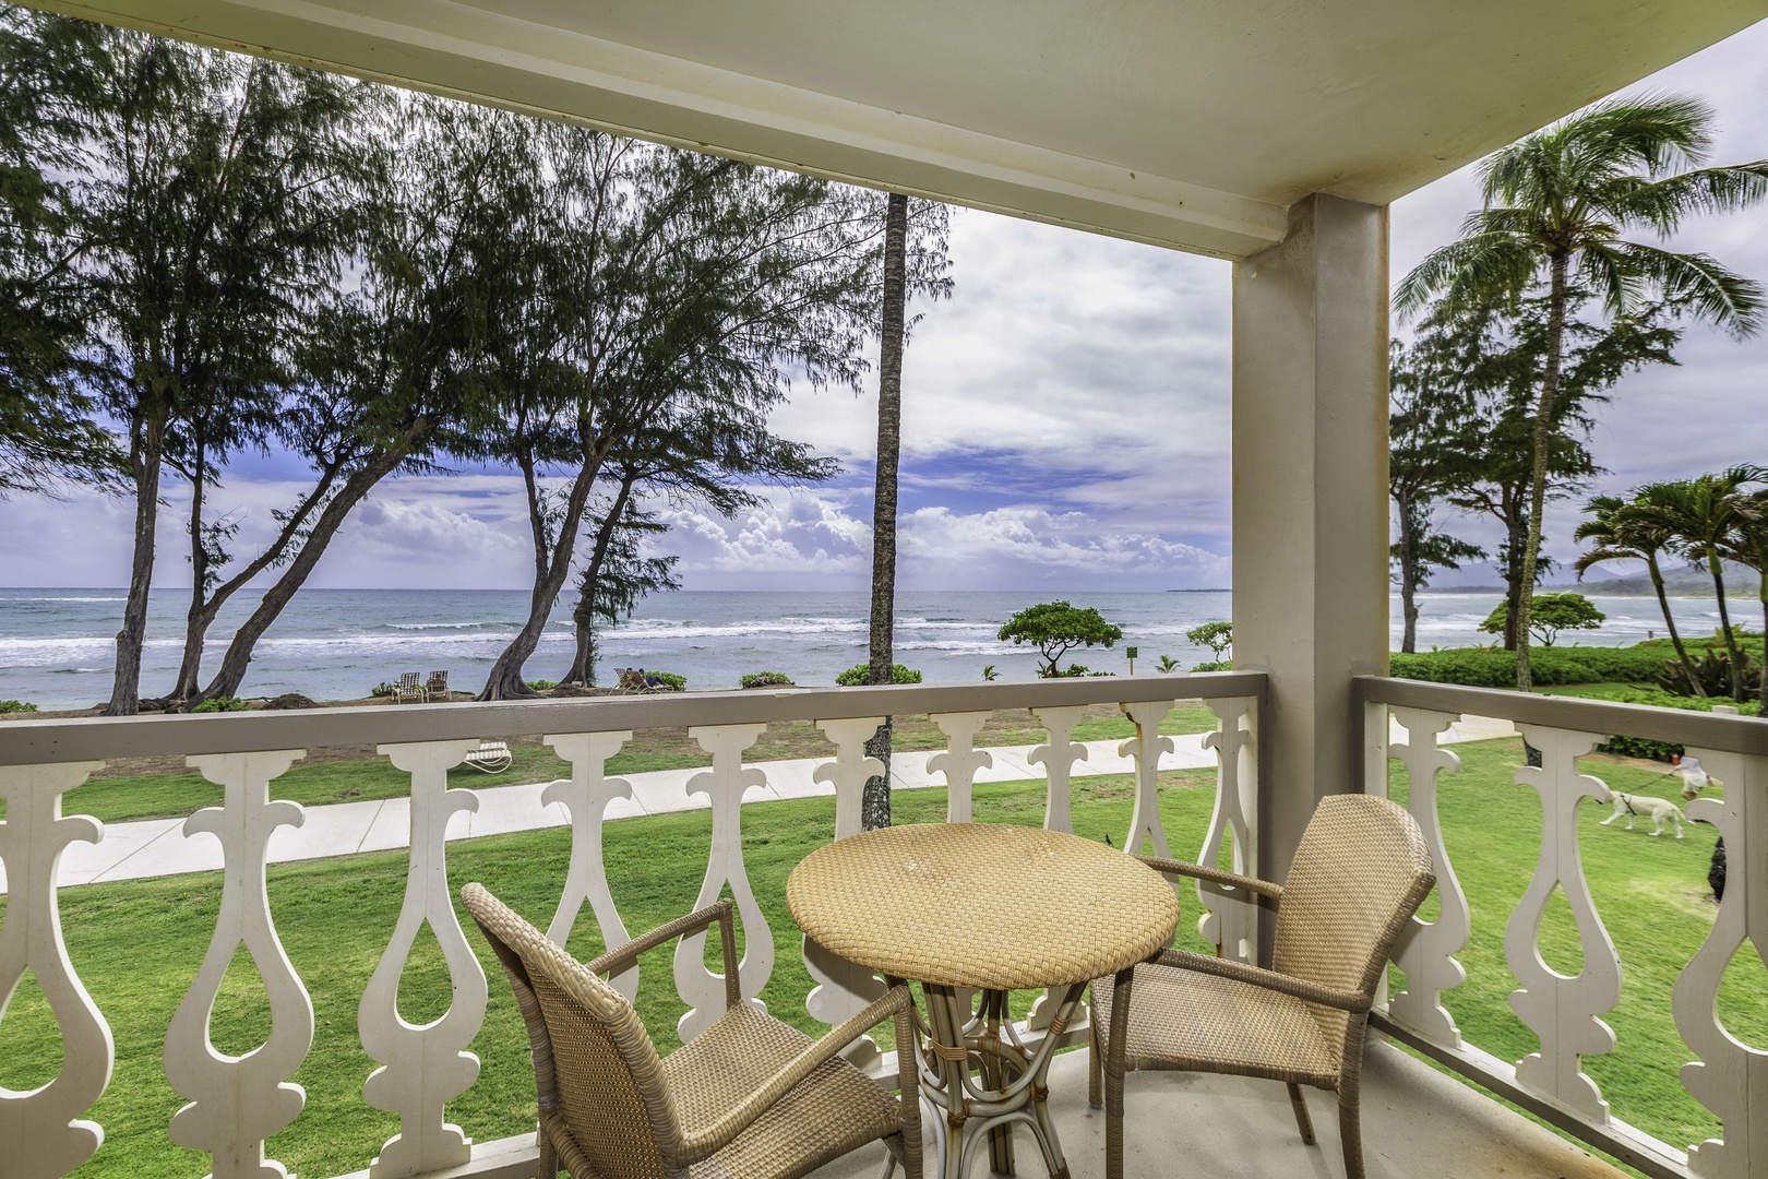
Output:
[[670,147],[1220,258],[1282,205],[446,0],[50,0],[41,7]]

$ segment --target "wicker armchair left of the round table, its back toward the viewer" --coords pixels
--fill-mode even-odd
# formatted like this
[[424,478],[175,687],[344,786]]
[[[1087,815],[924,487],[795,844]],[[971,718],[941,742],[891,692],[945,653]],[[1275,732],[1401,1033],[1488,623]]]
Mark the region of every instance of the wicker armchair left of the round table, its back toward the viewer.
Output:
[[[575,1179],[797,1179],[879,1138],[889,1147],[886,1179],[898,1161],[907,1179],[921,1179],[914,1053],[902,1053],[900,1099],[838,1055],[889,1016],[898,1043],[912,1043],[905,985],[812,1041],[743,1002],[728,900],[589,963],[479,884],[461,889],[461,901],[504,963],[529,1027],[545,1179],[560,1168]],[[714,921],[725,951],[725,1015],[658,1059],[638,1013],[599,976]]]

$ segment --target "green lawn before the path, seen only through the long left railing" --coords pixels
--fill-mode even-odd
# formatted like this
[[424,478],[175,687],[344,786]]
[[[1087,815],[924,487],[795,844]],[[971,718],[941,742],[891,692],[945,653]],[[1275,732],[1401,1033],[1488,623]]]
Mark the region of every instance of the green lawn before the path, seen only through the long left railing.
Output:
[[[1215,774],[1165,774],[1162,811],[1174,848],[1197,847],[1213,802]],[[1075,785],[1075,831],[1119,843],[1130,824],[1128,778],[1087,778]],[[896,795],[898,822],[944,818],[944,790]],[[978,820],[1043,822],[1041,785],[979,785]],[[785,910],[785,877],[813,848],[833,838],[833,799],[769,802],[743,810],[744,856],[755,894],[774,933],[776,963],[762,992],[769,1009],[812,1034],[822,1025],[804,1011],[812,979],[797,953],[797,932]],[[628,928],[645,930],[688,912],[705,864],[709,811],[629,818],[606,827],[605,847],[613,894]],[[518,912],[545,928],[559,898],[569,833],[537,831],[449,845],[449,877],[458,889],[481,880]],[[357,1038],[357,1000],[392,933],[405,891],[403,852],[283,864],[269,870],[271,898],[283,944],[313,997],[313,1050],[295,1076],[308,1091],[302,1117],[271,1140],[269,1154],[322,1179],[357,1170],[378,1151],[398,1121],[362,1103],[362,1080],[375,1068]],[[88,1117],[106,1130],[104,1145],[80,1175],[189,1175],[207,1170],[207,1156],[171,1145],[166,1122],[182,1105],[161,1068],[166,1025],[196,974],[221,900],[221,875],[200,873],[65,889],[62,923],[67,953],[111,1022],[117,1071]],[[4,910],[0,910],[4,912]],[[1186,907],[1181,937],[1195,937],[1195,905]],[[465,917],[463,917],[465,921]],[[469,930],[470,930],[470,923]],[[1186,935],[1185,930],[1190,930]],[[449,1117],[479,1140],[520,1133],[534,1124],[534,1075],[527,1038],[500,969],[469,933],[492,983],[484,1029],[472,1050],[479,1082],[449,1107]],[[716,955],[716,939],[709,939]],[[594,919],[580,919],[571,951],[601,949]],[[670,972],[672,947],[647,956],[640,970],[640,1011],[663,1052],[677,1045],[682,1008]],[[237,976],[237,985],[235,985]],[[447,976],[426,930],[400,988],[401,1013],[421,1023],[446,1004]],[[235,962],[212,1025],[223,1052],[262,1041],[267,1009],[248,962]],[[1022,1008],[1033,995],[1022,995]],[[888,1029],[884,1029],[888,1031]],[[888,1045],[888,1036],[882,1036]],[[27,977],[0,1023],[0,1085],[32,1089],[58,1068],[58,1038],[41,992]]]

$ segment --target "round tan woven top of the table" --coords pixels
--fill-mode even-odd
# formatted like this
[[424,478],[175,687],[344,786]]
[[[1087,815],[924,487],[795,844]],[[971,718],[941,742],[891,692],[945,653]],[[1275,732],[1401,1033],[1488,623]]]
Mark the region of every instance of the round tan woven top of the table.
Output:
[[1096,979],[1172,940],[1179,901],[1147,864],[1059,831],[921,824],[836,840],[785,903],[827,951],[882,974],[1018,990]]

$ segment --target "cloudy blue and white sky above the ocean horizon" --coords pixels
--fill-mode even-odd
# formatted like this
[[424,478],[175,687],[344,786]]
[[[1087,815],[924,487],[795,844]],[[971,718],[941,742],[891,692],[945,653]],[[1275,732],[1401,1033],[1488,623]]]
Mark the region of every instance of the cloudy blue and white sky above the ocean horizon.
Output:
[[[1768,157],[1757,117],[1768,21],[1628,92],[1701,95],[1717,111],[1715,161]],[[1471,166],[1398,200],[1393,278],[1455,237],[1476,205]],[[1768,281],[1764,228],[1768,207],[1697,219],[1674,247]],[[903,359],[898,587],[1229,585],[1229,263],[976,210],[953,214],[951,258],[953,297],[911,309],[923,318]],[[1678,359],[1612,391],[1591,438],[1607,470],[1593,491],[1768,461],[1768,332],[1738,343],[1690,327]],[[762,488],[762,507],[728,520],[658,504],[670,530],[656,551],[681,559],[688,589],[868,587],[875,414],[875,377],[861,394],[794,389],[776,431],[838,458],[843,474]],[[301,474],[288,456],[230,474],[212,502],[239,520],[242,550],[269,536]],[[184,502],[166,497],[157,585],[189,583]],[[131,504],[27,497],[0,513],[0,583],[127,583]],[[1559,560],[1575,551],[1575,502],[1549,509],[1547,550]],[[1446,523],[1476,543],[1497,536],[1478,518]],[[382,484],[309,585],[522,589],[530,571],[518,481],[461,470]],[[1437,583],[1496,580],[1469,567]]]

